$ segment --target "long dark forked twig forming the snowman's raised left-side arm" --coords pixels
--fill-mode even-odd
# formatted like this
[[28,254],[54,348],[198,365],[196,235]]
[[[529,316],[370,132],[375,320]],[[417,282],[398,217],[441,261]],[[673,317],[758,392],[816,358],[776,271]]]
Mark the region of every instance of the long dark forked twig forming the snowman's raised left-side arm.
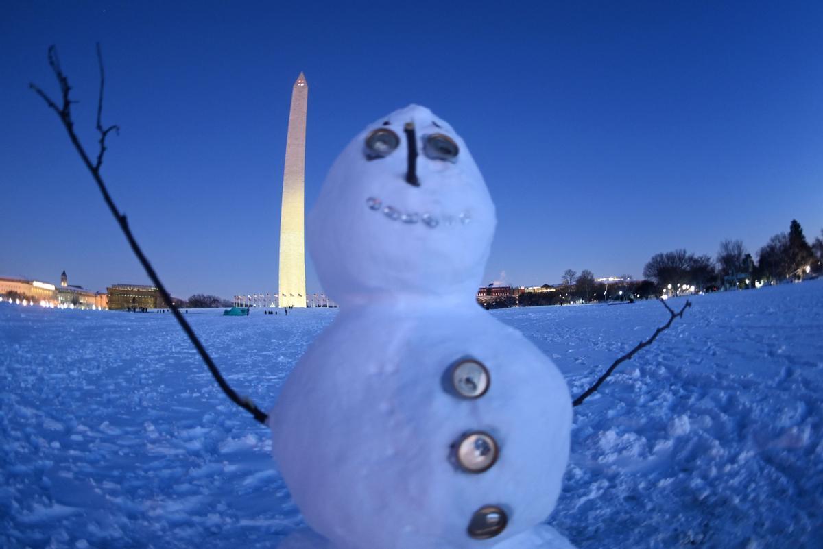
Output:
[[86,168],[89,169],[91,172],[91,177],[95,179],[97,183],[97,187],[100,189],[100,193],[103,195],[103,199],[105,200],[106,205],[109,206],[109,210],[111,214],[114,215],[114,219],[117,220],[117,223],[120,225],[120,228],[123,230],[123,234],[126,236],[128,240],[129,246],[132,247],[132,251],[137,256],[137,259],[140,261],[140,264],[143,266],[143,269],[146,270],[146,274],[148,274],[149,279],[151,282],[157,287],[160,291],[160,296],[163,300],[168,304],[171,312],[174,314],[174,318],[177,319],[180,327],[183,328],[186,335],[188,335],[188,339],[191,340],[194,348],[198,350],[200,353],[200,358],[202,358],[203,362],[206,362],[206,366],[208,367],[209,371],[212,372],[212,376],[214,377],[215,381],[217,381],[217,385],[220,385],[220,388],[226,393],[232,402],[237,404],[240,408],[244,408],[249,413],[251,413],[258,422],[263,424],[267,421],[266,413],[263,413],[260,408],[258,408],[248,397],[240,397],[239,394],[233,390],[230,385],[226,382],[226,380],[221,375],[220,371],[217,369],[216,364],[212,360],[212,357],[209,356],[205,347],[198,339],[198,336],[194,334],[194,330],[192,327],[188,325],[188,322],[184,318],[183,315],[180,314],[179,309],[174,305],[174,302],[171,299],[170,294],[166,291],[165,286],[162,282],[160,282],[160,277],[157,276],[157,273],[154,270],[154,267],[151,266],[151,263],[146,259],[146,256],[143,254],[140,246],[137,244],[137,240],[135,240],[134,235],[130,228],[128,228],[128,221],[126,219],[126,215],[121,214],[120,211],[117,209],[117,206],[114,205],[114,201],[112,200],[111,196],[109,195],[109,191],[105,186],[105,182],[103,178],[100,176],[100,167],[103,165],[103,155],[106,150],[105,146],[105,138],[109,135],[109,132],[114,130],[119,133],[118,126],[109,126],[104,128],[102,122],[100,121],[101,115],[103,113],[103,85],[105,81],[105,75],[103,72],[103,57],[100,54],[100,44],[97,44],[97,61],[100,66],[100,96],[97,101],[97,131],[100,132],[100,150],[97,153],[97,160],[94,164],[91,163],[91,158],[88,154],[86,154],[86,150],[81,145],[80,140],[77,138],[77,134],[74,132],[74,122],[72,122],[72,103],[76,103],[76,101],[72,101],[69,98],[69,92],[72,90],[72,87],[68,84],[68,78],[63,73],[63,70],[60,68],[60,62],[57,55],[57,48],[53,45],[49,46],[49,66],[52,67],[52,71],[54,72],[54,76],[57,78],[58,84],[60,85],[60,92],[63,99],[63,105],[58,107],[58,105],[49,98],[43,90],[40,89],[35,84],[29,84],[29,87],[32,90],[35,90],[37,95],[40,95],[41,98],[49,105],[49,108],[52,108],[55,113],[58,114],[60,121],[63,122],[63,126],[66,127],[66,131],[68,132],[68,137],[72,141],[74,148],[77,150],[77,154],[80,155],[80,158],[83,161],[83,164],[86,164]]

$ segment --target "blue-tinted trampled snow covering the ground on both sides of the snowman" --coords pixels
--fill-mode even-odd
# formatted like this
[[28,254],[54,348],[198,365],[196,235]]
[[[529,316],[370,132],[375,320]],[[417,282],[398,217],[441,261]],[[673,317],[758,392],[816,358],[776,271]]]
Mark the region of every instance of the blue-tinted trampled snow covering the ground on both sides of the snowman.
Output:
[[[823,546],[823,280],[691,299],[575,408],[551,524],[580,549]],[[335,313],[188,318],[267,409]],[[573,395],[667,320],[658,302],[493,314]],[[267,429],[169,314],[0,303],[0,403],[2,547],[277,547],[302,524]]]

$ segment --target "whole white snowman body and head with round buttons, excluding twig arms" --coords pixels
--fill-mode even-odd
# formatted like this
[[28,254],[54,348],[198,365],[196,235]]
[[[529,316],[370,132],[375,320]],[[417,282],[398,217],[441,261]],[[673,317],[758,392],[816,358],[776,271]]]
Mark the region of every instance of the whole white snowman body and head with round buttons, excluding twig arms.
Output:
[[543,524],[569,392],[475,301],[495,206],[460,136],[417,105],[379,118],[333,164],[307,228],[340,312],[270,414],[314,530],[281,547],[571,547]]

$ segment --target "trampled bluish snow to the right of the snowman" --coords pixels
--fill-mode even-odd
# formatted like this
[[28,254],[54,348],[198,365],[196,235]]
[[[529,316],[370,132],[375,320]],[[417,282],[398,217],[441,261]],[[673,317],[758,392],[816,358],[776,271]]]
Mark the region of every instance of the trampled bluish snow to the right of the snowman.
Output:
[[[690,299],[574,408],[551,523],[581,548],[823,547],[823,281]],[[642,302],[500,318],[551,353],[577,395],[667,312]]]

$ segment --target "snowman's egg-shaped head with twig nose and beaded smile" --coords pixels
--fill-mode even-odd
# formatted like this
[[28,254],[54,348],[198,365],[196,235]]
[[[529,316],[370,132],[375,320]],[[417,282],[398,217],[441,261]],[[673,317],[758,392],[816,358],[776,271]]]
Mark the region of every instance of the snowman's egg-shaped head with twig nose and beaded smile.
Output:
[[341,304],[473,301],[494,229],[495,206],[463,139],[410,105],[337,157],[307,237],[323,288]]

